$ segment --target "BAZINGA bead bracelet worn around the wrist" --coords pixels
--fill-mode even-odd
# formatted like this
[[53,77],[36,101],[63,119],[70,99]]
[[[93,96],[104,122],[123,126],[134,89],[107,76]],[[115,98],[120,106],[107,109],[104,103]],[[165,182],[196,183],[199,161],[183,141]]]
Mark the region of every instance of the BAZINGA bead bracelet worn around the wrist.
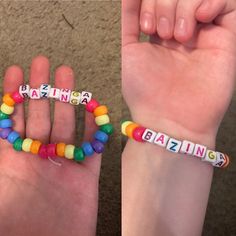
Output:
[[225,168],[229,165],[229,157],[221,152],[208,149],[206,146],[184,140],[180,141],[168,135],[147,129],[132,121],[124,121],[121,124],[121,132],[138,142],[154,143],[166,148],[170,152],[181,153],[198,157],[202,161],[211,163],[215,167]]

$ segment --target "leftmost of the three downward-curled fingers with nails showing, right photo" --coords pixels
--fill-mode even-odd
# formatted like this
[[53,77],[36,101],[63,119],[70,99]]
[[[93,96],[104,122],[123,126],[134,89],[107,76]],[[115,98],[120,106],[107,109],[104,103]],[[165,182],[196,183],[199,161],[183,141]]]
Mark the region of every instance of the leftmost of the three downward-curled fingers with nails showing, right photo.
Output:
[[140,13],[140,27],[143,33],[152,35],[156,32],[156,0],[143,0]]

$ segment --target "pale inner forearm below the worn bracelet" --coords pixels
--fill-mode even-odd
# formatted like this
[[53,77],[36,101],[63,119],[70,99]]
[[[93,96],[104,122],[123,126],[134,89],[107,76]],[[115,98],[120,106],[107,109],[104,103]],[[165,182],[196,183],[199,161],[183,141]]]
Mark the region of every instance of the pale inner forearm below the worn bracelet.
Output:
[[122,157],[124,236],[200,235],[213,167],[129,140]]

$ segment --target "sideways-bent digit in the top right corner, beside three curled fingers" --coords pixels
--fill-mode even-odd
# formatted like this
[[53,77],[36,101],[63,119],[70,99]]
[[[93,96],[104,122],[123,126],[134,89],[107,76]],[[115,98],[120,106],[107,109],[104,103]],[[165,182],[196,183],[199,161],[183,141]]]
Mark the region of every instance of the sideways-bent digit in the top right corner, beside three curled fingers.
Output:
[[196,19],[203,23],[214,21],[217,25],[236,32],[236,2],[234,0],[204,0],[196,11]]

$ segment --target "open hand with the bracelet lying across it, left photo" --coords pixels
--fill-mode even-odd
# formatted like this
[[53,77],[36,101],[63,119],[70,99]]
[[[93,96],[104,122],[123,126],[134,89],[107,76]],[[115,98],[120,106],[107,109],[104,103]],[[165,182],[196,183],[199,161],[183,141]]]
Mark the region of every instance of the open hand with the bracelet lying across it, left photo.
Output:
[[[50,83],[49,67],[46,57],[33,59],[31,87]],[[70,67],[60,66],[55,72],[54,86],[73,89],[74,77]],[[23,83],[20,67],[6,70],[4,92],[16,91]],[[75,143],[75,125],[79,121],[75,120],[75,108],[70,104],[55,103],[52,123],[48,99],[31,100],[27,119],[23,105],[17,105],[12,118],[22,137],[44,143]],[[95,129],[93,116],[86,114],[84,139],[90,140]],[[0,141],[0,156],[1,235],[95,235],[100,155],[93,155],[82,164],[59,158],[55,160],[62,164],[59,167],[47,159],[16,152],[7,141]]]

